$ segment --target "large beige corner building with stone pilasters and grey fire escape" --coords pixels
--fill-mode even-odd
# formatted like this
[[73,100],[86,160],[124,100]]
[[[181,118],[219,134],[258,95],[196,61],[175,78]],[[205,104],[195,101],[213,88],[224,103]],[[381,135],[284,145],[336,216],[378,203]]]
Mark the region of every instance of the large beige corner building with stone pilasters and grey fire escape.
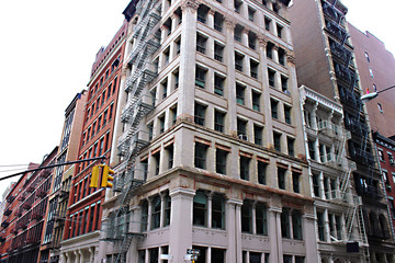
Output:
[[287,4],[126,8],[99,259],[317,262]]

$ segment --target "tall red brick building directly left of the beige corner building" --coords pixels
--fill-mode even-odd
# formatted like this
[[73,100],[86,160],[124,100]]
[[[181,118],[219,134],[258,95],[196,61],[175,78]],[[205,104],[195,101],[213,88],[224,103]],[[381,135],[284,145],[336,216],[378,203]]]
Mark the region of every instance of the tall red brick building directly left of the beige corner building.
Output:
[[[109,163],[126,30],[124,23],[109,46],[97,54],[88,83],[79,159],[105,156]],[[76,167],[60,251],[66,259],[60,261],[92,261],[97,253],[105,190],[90,188],[89,183],[92,167],[99,163],[82,162]]]

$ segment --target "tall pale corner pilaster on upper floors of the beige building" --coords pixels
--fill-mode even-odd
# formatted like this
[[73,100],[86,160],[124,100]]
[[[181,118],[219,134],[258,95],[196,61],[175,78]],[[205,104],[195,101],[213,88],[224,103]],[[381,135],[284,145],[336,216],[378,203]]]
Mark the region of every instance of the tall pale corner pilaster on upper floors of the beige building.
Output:
[[181,54],[180,57],[180,77],[179,77],[179,103],[178,116],[181,118],[193,119],[194,114],[194,90],[195,84],[195,46],[196,46],[196,10],[199,2],[187,0],[181,5],[182,10],[182,32],[181,32]]

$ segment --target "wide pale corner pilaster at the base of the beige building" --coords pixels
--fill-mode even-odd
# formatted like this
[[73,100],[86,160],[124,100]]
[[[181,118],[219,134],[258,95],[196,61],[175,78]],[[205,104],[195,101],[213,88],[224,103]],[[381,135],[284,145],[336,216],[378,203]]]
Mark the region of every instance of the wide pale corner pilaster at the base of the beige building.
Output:
[[169,232],[169,254],[173,262],[183,262],[188,249],[192,249],[192,207],[195,192],[177,187],[170,191],[171,225]]

